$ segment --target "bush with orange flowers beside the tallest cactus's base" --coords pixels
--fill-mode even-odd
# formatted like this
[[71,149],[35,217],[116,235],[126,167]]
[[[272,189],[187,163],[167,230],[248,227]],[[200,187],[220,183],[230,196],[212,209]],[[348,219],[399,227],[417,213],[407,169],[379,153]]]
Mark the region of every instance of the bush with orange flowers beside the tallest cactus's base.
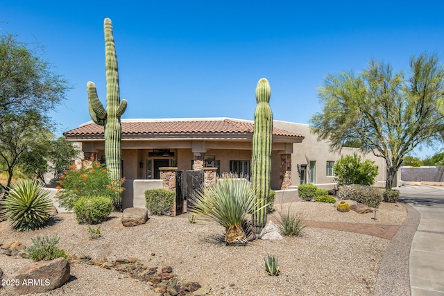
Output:
[[113,181],[100,162],[83,162],[80,169],[76,165],[69,166],[69,171],[65,171],[58,181],[58,201],[67,210],[74,209],[74,203],[80,198],[93,196],[105,196],[114,200],[114,204],[120,204],[123,182],[125,178],[120,182]]

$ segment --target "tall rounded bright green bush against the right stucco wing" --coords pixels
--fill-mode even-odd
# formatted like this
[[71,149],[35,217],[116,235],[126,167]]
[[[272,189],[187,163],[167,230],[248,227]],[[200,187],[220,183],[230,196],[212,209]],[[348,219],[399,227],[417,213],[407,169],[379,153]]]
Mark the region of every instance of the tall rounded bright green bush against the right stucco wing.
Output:
[[371,186],[375,183],[378,168],[375,162],[366,159],[361,160],[357,153],[353,155],[343,155],[333,166],[335,179],[339,186],[361,184]]

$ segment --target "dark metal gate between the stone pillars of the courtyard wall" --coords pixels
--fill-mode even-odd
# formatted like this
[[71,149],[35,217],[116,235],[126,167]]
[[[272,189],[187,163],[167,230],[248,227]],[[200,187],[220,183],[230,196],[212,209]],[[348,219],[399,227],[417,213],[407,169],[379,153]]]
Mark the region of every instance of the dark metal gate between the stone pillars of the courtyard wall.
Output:
[[[184,212],[191,207],[189,196],[203,186],[203,171],[176,171],[176,212]],[[183,201],[187,200],[187,209],[182,209]],[[179,205],[180,204],[180,205]]]

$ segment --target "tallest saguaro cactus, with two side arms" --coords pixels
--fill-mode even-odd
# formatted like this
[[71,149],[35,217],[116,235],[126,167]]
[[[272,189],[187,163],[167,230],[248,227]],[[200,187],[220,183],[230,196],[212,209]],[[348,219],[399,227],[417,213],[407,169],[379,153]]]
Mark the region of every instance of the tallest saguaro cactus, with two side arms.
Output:
[[[121,179],[121,123],[120,116],[126,110],[126,100],[120,101],[117,55],[112,35],[111,19],[104,21],[106,110],[97,96],[94,82],[87,83],[89,114],[92,120],[105,127],[105,158],[108,172],[116,184]],[[114,199],[114,207],[121,209],[121,196]]]

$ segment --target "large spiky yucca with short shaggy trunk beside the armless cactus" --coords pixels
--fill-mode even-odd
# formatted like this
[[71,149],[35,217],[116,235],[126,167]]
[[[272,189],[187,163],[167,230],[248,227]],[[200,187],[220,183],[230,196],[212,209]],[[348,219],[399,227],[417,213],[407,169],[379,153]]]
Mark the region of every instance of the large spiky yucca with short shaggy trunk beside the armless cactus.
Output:
[[[222,177],[216,184],[205,187],[191,196],[191,211],[203,218],[214,220],[225,227],[225,243],[245,245],[248,240],[241,225],[248,214],[257,211],[254,186],[245,179]],[[268,204],[264,204],[266,207]]]

